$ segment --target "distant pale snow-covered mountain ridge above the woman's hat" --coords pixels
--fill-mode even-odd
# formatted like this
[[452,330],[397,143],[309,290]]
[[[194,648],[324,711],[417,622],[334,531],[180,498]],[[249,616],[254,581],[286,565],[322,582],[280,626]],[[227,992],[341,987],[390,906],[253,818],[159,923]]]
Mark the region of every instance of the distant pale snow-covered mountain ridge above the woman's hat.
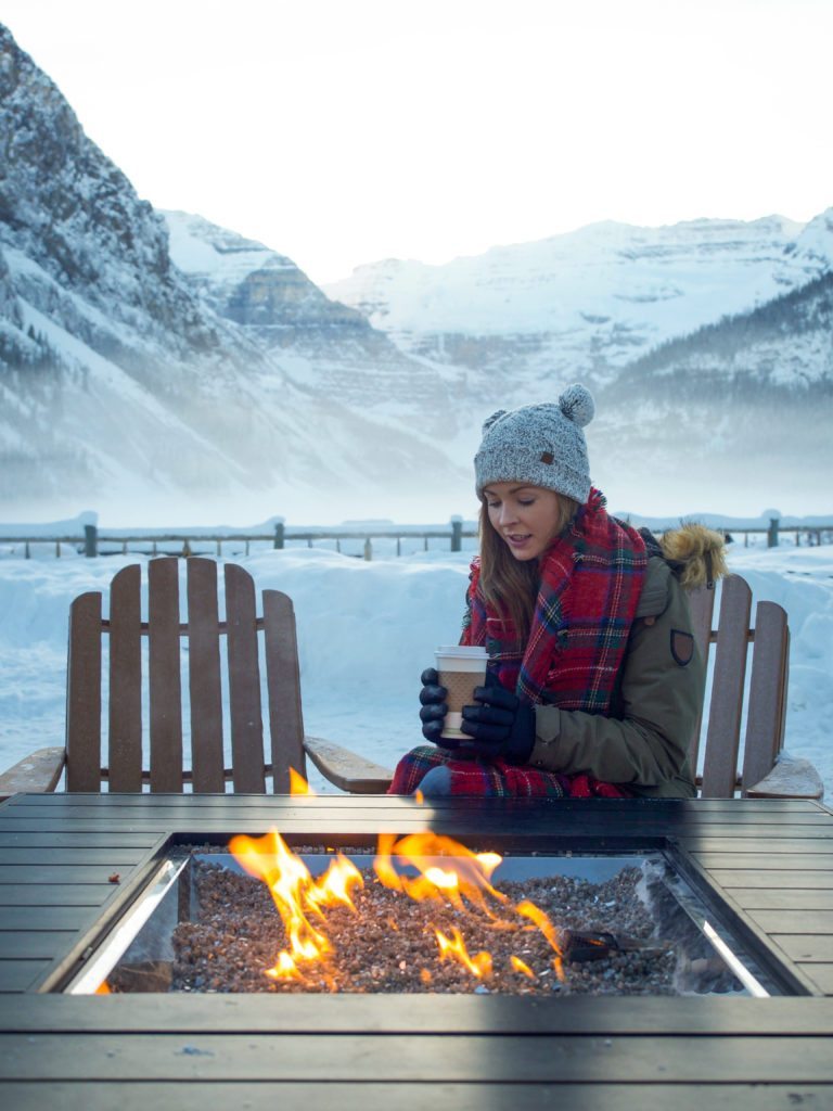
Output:
[[520,399],[553,381],[603,384],[671,337],[831,268],[833,209],[805,228],[782,217],[596,223],[445,266],[360,267],[327,292],[403,350],[462,363]]

